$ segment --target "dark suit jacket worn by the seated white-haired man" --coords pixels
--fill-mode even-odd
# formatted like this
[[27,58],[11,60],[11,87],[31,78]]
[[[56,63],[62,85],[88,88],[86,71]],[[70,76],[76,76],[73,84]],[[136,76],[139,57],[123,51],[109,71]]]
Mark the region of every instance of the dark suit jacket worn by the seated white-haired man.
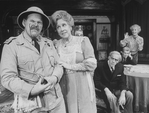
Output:
[[107,61],[98,64],[94,75],[95,87],[102,91],[105,87],[111,91],[126,89],[126,76],[123,71],[124,66],[121,63],[115,66],[114,72],[111,72]]

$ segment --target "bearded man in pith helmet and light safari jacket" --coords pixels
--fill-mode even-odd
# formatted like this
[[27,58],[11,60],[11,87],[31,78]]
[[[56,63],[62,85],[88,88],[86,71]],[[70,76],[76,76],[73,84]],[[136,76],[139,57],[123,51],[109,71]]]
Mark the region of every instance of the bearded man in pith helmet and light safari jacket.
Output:
[[23,32],[4,42],[1,58],[2,85],[14,93],[18,113],[65,113],[59,81],[63,69],[51,40],[42,37],[50,20],[38,7],[17,17]]

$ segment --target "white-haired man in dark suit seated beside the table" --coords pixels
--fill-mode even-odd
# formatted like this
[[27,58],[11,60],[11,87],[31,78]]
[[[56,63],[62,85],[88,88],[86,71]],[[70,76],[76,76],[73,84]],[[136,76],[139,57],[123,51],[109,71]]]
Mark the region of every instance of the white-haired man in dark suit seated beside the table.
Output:
[[100,96],[106,103],[108,113],[133,113],[133,94],[126,88],[126,76],[118,51],[109,54],[108,61],[99,64],[95,70],[95,86],[101,90]]

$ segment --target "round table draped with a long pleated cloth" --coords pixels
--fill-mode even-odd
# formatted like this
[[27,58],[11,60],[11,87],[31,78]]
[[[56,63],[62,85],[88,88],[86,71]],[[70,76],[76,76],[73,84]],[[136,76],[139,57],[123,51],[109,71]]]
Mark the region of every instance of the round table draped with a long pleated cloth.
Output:
[[134,110],[148,112],[149,105],[149,65],[137,64],[129,69],[125,67],[127,87],[134,94]]

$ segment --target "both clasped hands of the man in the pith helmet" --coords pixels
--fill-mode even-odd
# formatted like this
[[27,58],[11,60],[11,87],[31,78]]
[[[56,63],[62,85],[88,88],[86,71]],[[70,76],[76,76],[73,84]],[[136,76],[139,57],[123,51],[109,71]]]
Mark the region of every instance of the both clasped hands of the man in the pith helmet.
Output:
[[[43,83],[43,81],[46,81]],[[39,93],[52,89],[57,83],[56,76],[40,77],[39,81],[34,85],[31,90],[31,95],[38,95]]]

